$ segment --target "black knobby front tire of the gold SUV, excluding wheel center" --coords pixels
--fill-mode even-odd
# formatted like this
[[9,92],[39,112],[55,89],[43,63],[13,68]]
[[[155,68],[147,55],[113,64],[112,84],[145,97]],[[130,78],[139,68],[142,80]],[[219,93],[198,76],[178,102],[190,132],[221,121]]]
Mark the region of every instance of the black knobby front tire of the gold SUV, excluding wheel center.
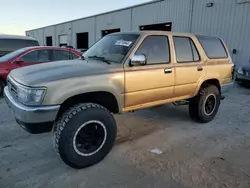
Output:
[[[96,150],[96,153],[83,156],[74,147],[76,145],[74,137],[79,128],[90,121],[102,123],[103,130],[106,129],[106,139],[103,139],[103,145]],[[115,119],[106,108],[98,104],[83,103],[70,108],[56,121],[52,140],[54,149],[67,165],[75,169],[82,169],[100,162],[107,156],[115,143],[116,133]]]

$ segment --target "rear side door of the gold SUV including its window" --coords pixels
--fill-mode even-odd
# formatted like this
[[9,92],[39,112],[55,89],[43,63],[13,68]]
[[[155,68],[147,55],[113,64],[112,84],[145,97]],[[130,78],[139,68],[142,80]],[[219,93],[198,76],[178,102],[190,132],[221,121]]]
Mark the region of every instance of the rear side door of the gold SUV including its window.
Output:
[[199,79],[205,75],[204,63],[197,50],[197,40],[194,41],[192,37],[173,36],[173,44],[176,55],[174,96],[189,98],[193,95]]

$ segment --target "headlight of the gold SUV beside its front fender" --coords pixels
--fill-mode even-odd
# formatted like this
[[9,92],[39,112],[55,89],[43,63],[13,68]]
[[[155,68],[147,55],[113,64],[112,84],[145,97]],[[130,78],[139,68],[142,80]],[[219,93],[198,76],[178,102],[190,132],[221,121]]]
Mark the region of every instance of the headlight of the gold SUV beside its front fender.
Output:
[[43,102],[46,88],[17,87],[18,100],[26,105],[38,105]]

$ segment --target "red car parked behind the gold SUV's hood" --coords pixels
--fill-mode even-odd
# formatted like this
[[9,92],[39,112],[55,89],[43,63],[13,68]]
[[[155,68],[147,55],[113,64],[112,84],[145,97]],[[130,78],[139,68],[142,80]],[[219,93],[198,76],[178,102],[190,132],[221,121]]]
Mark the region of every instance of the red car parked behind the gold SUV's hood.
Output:
[[0,57],[0,96],[3,94],[6,78],[11,70],[39,63],[77,59],[81,55],[81,52],[72,48],[35,46],[21,48]]

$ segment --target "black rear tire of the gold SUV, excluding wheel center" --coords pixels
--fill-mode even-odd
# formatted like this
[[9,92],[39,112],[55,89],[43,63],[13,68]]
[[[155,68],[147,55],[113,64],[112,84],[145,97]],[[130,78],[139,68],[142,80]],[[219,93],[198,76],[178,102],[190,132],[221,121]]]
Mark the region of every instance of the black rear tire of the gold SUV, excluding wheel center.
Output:
[[[207,98],[211,95],[215,97],[216,104],[214,105],[214,110],[211,114],[207,114],[205,111],[205,104],[207,102]],[[202,87],[199,94],[189,102],[190,117],[200,123],[208,123],[212,121],[219,110],[220,99],[221,95],[218,87],[214,85]]]

